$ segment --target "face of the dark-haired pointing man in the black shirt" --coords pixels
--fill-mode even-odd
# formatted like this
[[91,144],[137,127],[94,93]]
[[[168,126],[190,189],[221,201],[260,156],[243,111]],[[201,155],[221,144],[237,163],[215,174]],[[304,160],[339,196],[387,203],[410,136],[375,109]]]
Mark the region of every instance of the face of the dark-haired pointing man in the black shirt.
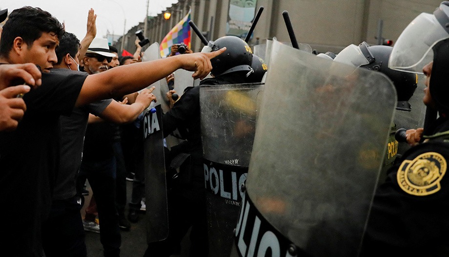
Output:
[[42,71],[48,72],[53,64],[58,62],[55,48],[59,44],[58,36],[54,33],[42,32],[42,36],[31,46],[25,42],[21,45],[21,63],[33,63],[41,66]]

